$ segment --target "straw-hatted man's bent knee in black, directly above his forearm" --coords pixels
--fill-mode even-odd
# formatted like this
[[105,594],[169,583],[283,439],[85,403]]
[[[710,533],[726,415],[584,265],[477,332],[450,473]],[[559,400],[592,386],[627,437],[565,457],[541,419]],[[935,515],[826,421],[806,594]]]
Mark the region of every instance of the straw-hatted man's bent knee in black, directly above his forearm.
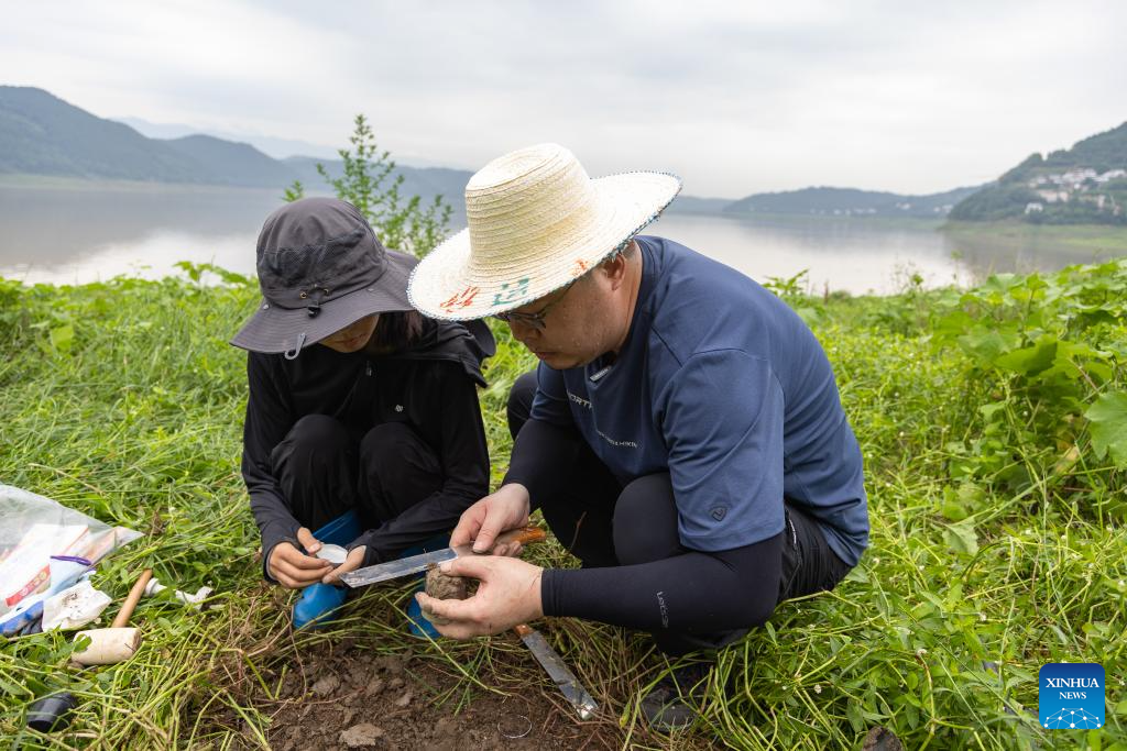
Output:
[[639,477],[614,506],[614,555],[622,565],[664,561],[685,553],[668,473]]

